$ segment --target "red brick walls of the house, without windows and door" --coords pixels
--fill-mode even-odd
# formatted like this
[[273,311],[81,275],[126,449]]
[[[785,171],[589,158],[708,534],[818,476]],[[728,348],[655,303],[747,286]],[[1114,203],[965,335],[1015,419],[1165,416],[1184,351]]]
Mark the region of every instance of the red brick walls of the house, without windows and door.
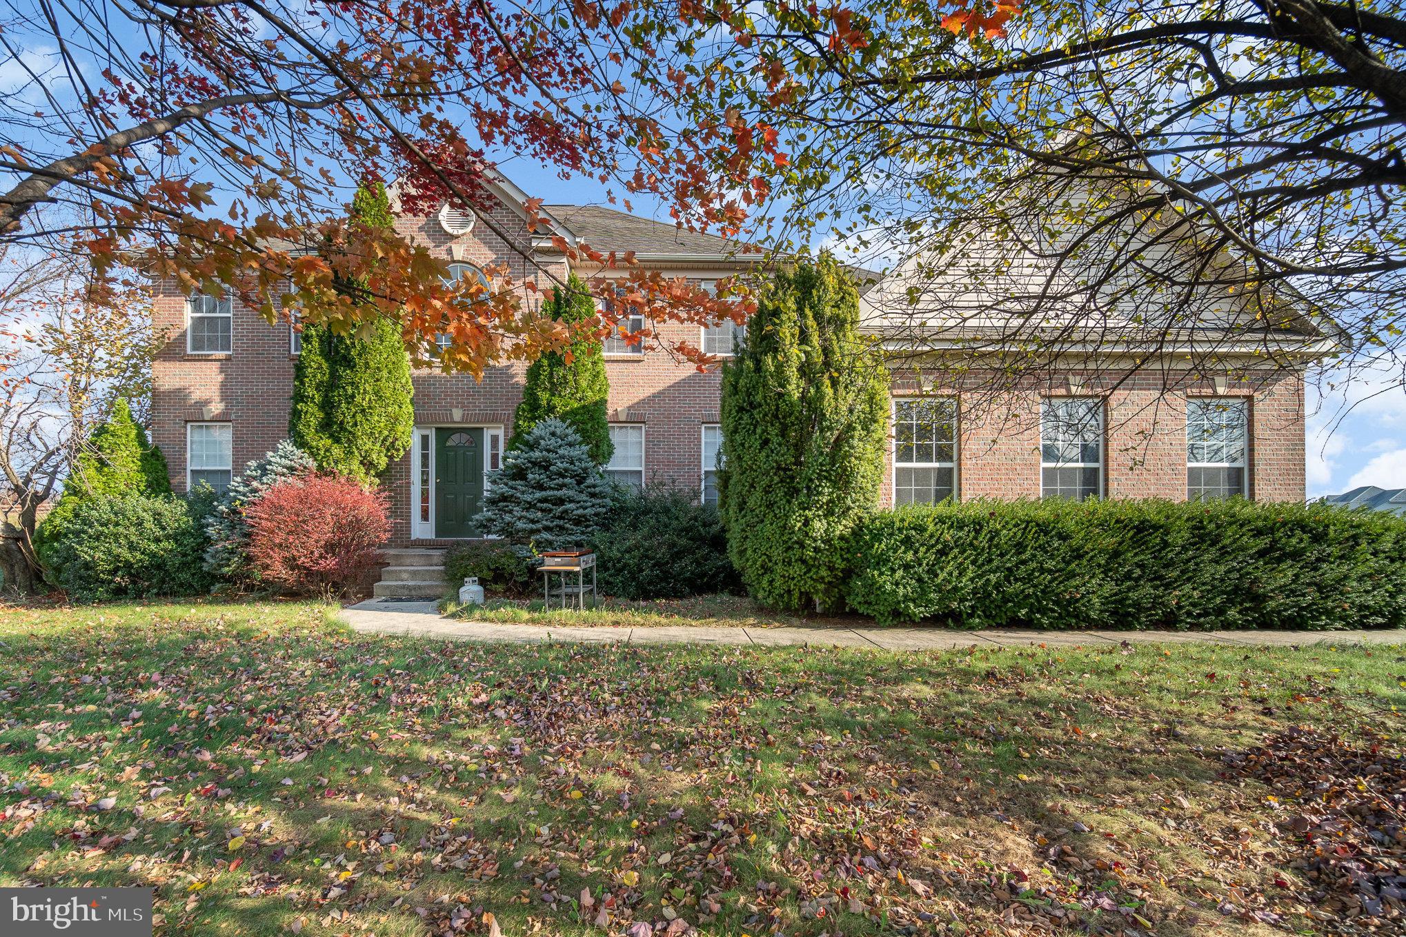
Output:
[[[527,232],[515,212],[502,208],[495,222],[524,247]],[[472,235],[451,239],[434,219],[406,219],[402,229],[446,254],[477,264],[506,263],[517,282],[533,270],[506,242],[479,225]],[[609,244],[599,246],[609,249]],[[558,268],[558,274],[564,267]],[[716,278],[725,271],[669,270],[671,274]],[[536,294],[524,294],[536,302]],[[167,285],[156,303],[156,326],[167,329],[170,344],[153,368],[153,438],[166,452],[173,485],[186,487],[186,424],[228,420],[233,424],[233,469],[262,457],[287,435],[292,360],[288,326],[269,325],[256,313],[236,308],[232,355],[186,354],[184,298]],[[661,339],[699,341],[697,326],[665,325]],[[503,426],[512,433],[512,414],[522,396],[524,365],[496,367],[481,382],[467,375],[434,371],[415,374],[415,414],[420,426]],[[610,419],[645,427],[645,475],[651,482],[699,490],[702,478],[702,426],[718,420],[718,374],[700,374],[693,365],[652,351],[643,358],[607,358]],[[1108,438],[1105,485],[1112,497],[1185,497],[1184,396],[1168,395],[1167,375],[1084,372],[1080,396],[1107,398]],[[914,375],[896,376],[894,393],[956,392],[959,417],[957,485],[963,497],[1039,496],[1039,406],[1053,391],[1033,382],[997,400],[979,395],[981,375],[969,375],[969,386],[938,386]],[[1116,384],[1115,389],[1112,385]],[[1191,392],[1213,392],[1209,382]],[[1279,375],[1250,386],[1227,389],[1251,395],[1251,494],[1261,500],[1302,500],[1303,479],[1303,382]],[[506,438],[506,437],[505,437]],[[387,472],[392,497],[395,542],[409,541],[409,455]],[[891,502],[891,465],[886,472],[883,503]]]

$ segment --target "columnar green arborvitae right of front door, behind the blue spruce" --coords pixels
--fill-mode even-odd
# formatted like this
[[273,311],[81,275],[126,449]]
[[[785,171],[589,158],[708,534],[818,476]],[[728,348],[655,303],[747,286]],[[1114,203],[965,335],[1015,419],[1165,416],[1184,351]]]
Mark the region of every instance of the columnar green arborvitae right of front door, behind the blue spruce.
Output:
[[[553,319],[576,323],[595,315],[586,285],[571,274],[567,288],[551,291],[547,309]],[[522,447],[527,433],[547,417],[561,417],[591,450],[598,465],[610,461],[610,424],[606,398],[606,361],[599,341],[576,341],[564,351],[548,351],[527,368],[523,399],[513,414],[513,435],[508,448]]]

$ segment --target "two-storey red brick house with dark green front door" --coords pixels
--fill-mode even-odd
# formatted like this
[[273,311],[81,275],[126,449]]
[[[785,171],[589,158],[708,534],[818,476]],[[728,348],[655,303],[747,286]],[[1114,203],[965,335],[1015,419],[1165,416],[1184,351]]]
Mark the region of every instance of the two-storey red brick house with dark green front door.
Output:
[[[479,275],[491,263],[508,264],[516,282],[534,278],[534,268],[565,275],[568,263],[553,247],[551,233],[603,251],[633,250],[643,266],[669,277],[713,281],[745,273],[754,263],[718,237],[599,207],[547,205],[554,230],[530,233],[519,208],[526,195],[506,180],[494,194],[491,226],[443,209],[398,225],[441,251],[461,277]],[[589,266],[576,266],[576,273],[613,275]],[[866,294],[872,329],[887,329],[884,296],[904,288],[898,270]],[[159,289],[155,325],[173,337],[153,365],[152,437],[166,452],[177,490],[200,480],[219,486],[287,435],[298,334],[288,323],[269,325],[228,299],[184,296],[172,284]],[[631,330],[638,327],[631,323]],[[658,332],[664,341],[688,339],[724,357],[734,340],[731,325],[664,323]],[[1319,348],[1317,354],[1327,347],[1308,327],[1284,340],[1301,350]],[[896,358],[883,504],[946,496],[1243,493],[1289,502],[1305,496],[1302,369],[1197,376],[1149,369],[1115,350],[1099,353],[1095,362],[1081,360],[1060,379],[1018,382],[991,406],[980,389],[987,386],[983,374],[953,379],[935,367],[941,350],[927,357],[898,354],[912,351],[900,348],[903,341],[893,330],[890,344],[901,361]],[[697,490],[704,500],[716,497],[718,372],[699,372],[665,351],[623,340],[609,340],[605,351],[616,448],[607,472],[623,482],[669,483]],[[1247,350],[1243,358],[1250,368],[1256,354]],[[1229,360],[1233,365],[1233,355]],[[413,445],[384,479],[394,545],[439,546],[478,534],[474,516],[485,476],[501,464],[512,433],[524,371],[523,364],[495,367],[482,382],[415,371]],[[974,405],[977,398],[983,406]]]

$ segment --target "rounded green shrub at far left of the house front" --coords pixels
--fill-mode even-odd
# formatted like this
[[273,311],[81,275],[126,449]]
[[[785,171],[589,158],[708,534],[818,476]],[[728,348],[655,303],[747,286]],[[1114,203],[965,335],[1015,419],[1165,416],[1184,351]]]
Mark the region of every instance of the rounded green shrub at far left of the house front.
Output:
[[209,591],[205,535],[174,494],[97,494],[73,509],[53,545],[59,586],[76,601]]

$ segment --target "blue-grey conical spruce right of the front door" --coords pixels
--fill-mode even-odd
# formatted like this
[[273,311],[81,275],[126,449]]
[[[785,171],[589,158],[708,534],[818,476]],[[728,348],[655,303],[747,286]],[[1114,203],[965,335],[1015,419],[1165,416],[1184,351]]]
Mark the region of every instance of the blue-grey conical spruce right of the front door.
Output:
[[585,546],[610,504],[610,483],[558,417],[534,426],[484,496],[484,531],[523,548]]

